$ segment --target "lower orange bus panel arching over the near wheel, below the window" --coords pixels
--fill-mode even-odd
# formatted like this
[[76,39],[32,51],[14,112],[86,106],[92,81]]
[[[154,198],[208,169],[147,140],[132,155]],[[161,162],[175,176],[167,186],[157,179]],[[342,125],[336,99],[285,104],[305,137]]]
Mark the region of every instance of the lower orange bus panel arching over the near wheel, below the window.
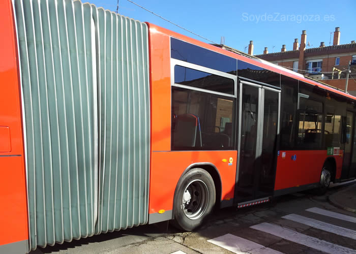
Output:
[[[229,166],[229,158],[233,158]],[[153,152],[150,185],[150,214],[172,210],[174,190],[183,172],[194,163],[211,163],[219,171],[221,200],[232,200],[236,176],[237,151]],[[222,160],[226,159],[225,162]],[[196,166],[199,167],[199,166]],[[219,199],[220,197],[216,197]]]

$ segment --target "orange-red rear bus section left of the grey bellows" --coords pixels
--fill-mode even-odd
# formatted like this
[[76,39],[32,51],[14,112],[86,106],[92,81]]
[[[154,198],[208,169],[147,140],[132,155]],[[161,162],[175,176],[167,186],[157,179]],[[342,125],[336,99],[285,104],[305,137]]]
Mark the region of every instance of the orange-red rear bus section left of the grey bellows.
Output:
[[[0,252],[25,252],[26,182],[15,28],[11,1],[0,1]],[[22,248],[18,248],[21,246]]]

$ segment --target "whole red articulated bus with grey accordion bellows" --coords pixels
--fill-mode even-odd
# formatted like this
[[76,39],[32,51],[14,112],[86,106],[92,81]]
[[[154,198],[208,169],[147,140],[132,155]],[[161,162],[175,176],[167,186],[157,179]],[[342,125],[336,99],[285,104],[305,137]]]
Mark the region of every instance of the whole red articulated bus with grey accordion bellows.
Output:
[[78,0],[0,1],[0,252],[355,177],[355,97]]

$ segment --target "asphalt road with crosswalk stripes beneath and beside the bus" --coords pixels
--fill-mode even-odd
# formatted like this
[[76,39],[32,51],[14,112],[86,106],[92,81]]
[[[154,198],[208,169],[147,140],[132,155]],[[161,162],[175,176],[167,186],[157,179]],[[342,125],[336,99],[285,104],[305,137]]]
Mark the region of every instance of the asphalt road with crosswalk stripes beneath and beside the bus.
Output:
[[248,208],[221,209],[195,232],[180,232],[164,222],[31,253],[356,253],[356,213],[328,202],[344,187],[330,188],[324,196],[297,193]]

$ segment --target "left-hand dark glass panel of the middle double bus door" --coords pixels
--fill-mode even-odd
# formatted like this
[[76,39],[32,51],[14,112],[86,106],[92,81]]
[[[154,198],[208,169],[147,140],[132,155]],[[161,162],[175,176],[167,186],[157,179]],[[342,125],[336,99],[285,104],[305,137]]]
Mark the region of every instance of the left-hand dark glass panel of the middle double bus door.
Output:
[[243,85],[239,181],[236,186],[241,200],[254,198],[258,89]]

